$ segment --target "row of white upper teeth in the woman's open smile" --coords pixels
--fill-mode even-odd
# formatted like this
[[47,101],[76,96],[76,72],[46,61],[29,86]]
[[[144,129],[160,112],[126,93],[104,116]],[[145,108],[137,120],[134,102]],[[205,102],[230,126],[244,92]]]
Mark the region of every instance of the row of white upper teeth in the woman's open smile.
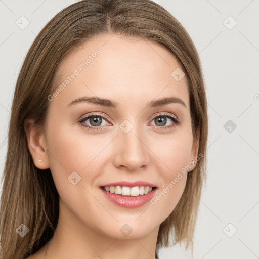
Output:
[[121,194],[124,196],[139,196],[145,195],[152,191],[152,187],[149,186],[105,186],[104,187],[106,192]]

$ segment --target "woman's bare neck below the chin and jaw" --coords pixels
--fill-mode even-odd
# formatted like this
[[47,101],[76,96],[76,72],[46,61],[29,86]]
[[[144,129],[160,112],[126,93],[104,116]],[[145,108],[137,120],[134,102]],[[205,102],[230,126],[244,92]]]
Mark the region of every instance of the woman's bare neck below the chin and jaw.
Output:
[[[95,226],[94,224],[92,224]],[[91,225],[91,226],[92,226]],[[124,224],[122,224],[124,225]],[[159,226],[145,236],[134,231],[125,239],[108,236],[101,229],[86,225],[60,199],[58,225],[53,238],[44,247],[46,258],[155,258]],[[132,236],[132,237],[131,237]],[[123,236],[122,236],[123,237]],[[131,238],[130,238],[131,237]]]

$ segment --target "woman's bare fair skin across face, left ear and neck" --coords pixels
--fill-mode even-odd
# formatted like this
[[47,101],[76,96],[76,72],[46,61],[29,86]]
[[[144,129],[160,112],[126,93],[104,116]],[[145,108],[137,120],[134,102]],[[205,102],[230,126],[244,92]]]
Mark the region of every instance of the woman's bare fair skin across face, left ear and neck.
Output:
[[[156,196],[197,156],[187,82],[185,77],[177,81],[171,76],[180,68],[174,55],[152,41],[111,36],[85,42],[61,62],[57,88],[78,64],[96,49],[100,51],[82,71],[77,69],[80,73],[49,101],[45,129],[30,127],[32,121],[26,121],[34,164],[51,169],[60,194],[55,234],[29,259],[155,257],[159,225],[179,202],[187,174],[156,204],[148,202],[138,208],[114,204],[100,186],[147,181],[156,185]],[[119,109],[82,102],[67,107],[81,97],[109,99],[117,102]],[[163,97],[177,97],[186,107],[180,103],[147,107],[149,101]],[[99,131],[83,126],[96,127],[89,118],[78,123],[92,113],[102,117]],[[159,115],[166,124],[155,119]],[[181,123],[166,118],[168,115]],[[119,127],[124,120],[133,125],[128,133]],[[68,181],[73,171],[81,177],[76,185]],[[133,230],[128,236],[120,232],[124,224]]]

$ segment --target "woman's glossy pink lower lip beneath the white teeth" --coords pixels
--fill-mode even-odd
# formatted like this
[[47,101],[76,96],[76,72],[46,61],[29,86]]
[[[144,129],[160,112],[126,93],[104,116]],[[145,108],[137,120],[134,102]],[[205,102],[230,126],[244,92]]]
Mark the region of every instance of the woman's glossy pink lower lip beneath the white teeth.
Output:
[[157,188],[154,188],[150,193],[139,196],[120,196],[115,193],[106,192],[102,188],[100,188],[104,195],[115,204],[126,207],[126,208],[137,208],[145,203],[149,202],[155,195],[155,191]]

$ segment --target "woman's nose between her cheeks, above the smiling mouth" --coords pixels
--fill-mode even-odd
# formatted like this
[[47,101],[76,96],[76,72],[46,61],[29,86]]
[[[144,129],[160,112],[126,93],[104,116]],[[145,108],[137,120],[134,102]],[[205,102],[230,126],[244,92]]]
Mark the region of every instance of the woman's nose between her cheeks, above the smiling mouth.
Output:
[[145,133],[133,127],[128,133],[119,129],[113,143],[114,165],[128,171],[145,169],[150,163],[149,148]]

